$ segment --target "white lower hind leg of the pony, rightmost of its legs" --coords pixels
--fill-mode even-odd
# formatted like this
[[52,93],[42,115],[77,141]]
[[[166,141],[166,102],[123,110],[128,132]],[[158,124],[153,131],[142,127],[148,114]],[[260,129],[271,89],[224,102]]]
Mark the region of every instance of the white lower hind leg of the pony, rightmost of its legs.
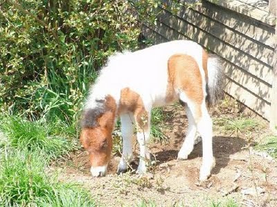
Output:
[[213,157],[213,122],[208,115],[206,106],[202,106],[202,117],[197,124],[197,130],[202,137],[203,160],[200,168],[200,180],[205,180],[211,175],[211,170],[215,166]]

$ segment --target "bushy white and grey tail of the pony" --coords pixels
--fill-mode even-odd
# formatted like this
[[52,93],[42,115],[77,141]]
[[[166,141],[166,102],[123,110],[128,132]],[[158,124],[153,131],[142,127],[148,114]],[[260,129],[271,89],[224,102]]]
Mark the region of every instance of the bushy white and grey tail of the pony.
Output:
[[224,73],[222,62],[216,55],[208,55],[208,83],[206,84],[208,107],[214,106],[224,95]]

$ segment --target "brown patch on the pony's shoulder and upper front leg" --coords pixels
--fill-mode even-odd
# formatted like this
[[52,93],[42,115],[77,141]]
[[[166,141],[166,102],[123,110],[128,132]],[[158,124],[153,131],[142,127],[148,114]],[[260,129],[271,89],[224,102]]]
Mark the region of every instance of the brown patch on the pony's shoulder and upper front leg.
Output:
[[143,100],[137,92],[129,88],[123,88],[120,93],[118,114],[122,112],[132,112],[139,128],[148,128],[148,112],[145,110]]

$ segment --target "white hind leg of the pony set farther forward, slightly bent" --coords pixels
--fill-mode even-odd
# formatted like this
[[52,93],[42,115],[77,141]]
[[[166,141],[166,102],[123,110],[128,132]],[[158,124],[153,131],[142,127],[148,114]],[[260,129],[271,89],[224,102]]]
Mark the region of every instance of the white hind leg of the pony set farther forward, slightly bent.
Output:
[[196,125],[188,106],[186,106],[186,116],[188,117],[188,132],[184,144],[179,150],[178,159],[188,159],[188,155],[193,151],[193,146],[195,144]]

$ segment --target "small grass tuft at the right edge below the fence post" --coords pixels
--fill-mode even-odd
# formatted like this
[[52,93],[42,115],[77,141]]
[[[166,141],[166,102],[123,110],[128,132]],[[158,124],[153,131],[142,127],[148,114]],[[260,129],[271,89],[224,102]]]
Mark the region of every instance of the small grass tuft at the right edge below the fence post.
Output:
[[277,136],[265,137],[265,141],[256,146],[257,150],[265,151],[277,159]]

